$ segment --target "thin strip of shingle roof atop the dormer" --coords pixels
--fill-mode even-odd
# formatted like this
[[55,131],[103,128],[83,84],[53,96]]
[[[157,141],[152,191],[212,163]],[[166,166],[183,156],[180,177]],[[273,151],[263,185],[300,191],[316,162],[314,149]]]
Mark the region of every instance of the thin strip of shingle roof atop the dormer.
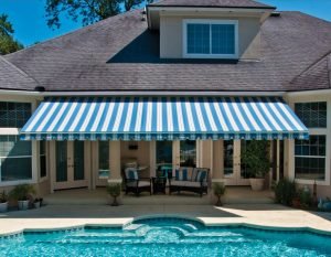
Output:
[[253,0],[161,0],[149,4],[150,7],[218,7],[218,8],[267,8],[274,7]]

